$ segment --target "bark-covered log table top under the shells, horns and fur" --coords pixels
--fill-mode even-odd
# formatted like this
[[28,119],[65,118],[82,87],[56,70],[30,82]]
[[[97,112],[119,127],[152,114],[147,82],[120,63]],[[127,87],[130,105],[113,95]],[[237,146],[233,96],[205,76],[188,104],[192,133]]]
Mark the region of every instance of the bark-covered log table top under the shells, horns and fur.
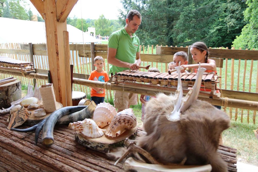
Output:
[[[88,149],[75,141],[75,131],[68,125],[54,129],[54,144],[46,147],[39,138],[34,144],[34,132],[18,133],[8,130],[9,114],[0,114],[0,171],[124,171],[123,164],[105,154]],[[28,125],[21,128],[27,128]],[[138,128],[138,136],[145,134]],[[228,163],[229,171],[236,170],[236,149],[219,146],[218,152]]]

